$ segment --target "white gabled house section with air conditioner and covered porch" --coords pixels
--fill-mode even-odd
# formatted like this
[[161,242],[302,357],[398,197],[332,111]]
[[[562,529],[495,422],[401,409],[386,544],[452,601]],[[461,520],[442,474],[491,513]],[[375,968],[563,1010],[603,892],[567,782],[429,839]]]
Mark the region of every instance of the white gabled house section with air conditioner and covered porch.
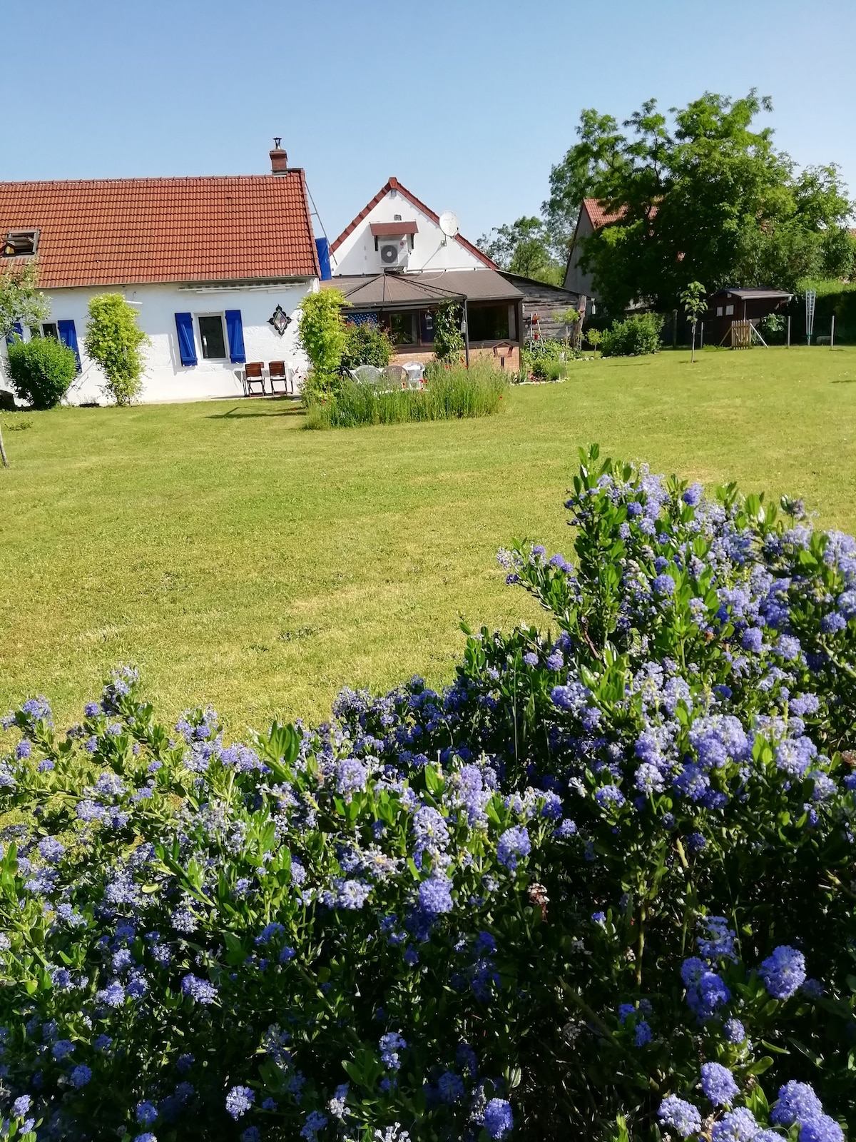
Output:
[[[446,225],[446,230],[454,230]],[[519,368],[524,292],[466,238],[444,233],[435,214],[390,178],[330,247],[332,280],[350,321],[378,321],[394,360],[434,355],[434,312],[447,300],[466,311],[471,356]]]

